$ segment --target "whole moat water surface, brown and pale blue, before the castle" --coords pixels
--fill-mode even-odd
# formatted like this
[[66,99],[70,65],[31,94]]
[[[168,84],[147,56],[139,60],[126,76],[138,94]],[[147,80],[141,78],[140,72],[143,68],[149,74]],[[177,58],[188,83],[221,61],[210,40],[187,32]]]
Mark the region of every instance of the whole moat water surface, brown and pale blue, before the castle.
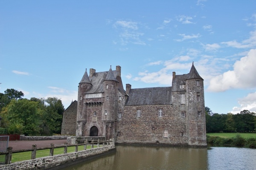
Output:
[[116,146],[116,152],[61,170],[256,170],[256,149]]

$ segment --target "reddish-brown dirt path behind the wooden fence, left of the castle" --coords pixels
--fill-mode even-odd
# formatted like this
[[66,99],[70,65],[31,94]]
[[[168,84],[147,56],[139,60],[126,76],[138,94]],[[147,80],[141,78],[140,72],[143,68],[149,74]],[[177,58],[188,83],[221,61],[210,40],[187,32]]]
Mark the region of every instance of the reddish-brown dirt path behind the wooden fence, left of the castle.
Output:
[[43,140],[43,141],[9,141],[9,146],[12,147],[12,150],[23,150],[23,149],[32,149],[32,145],[36,144],[37,148],[50,147],[51,143],[54,146],[64,145],[67,142],[67,139],[62,140]]

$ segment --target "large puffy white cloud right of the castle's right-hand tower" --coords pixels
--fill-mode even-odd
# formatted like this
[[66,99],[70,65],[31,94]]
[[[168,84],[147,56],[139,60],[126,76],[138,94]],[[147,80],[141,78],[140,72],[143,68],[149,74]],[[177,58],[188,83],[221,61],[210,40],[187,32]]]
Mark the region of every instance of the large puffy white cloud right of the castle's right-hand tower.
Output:
[[232,71],[213,77],[208,87],[209,91],[226,91],[230,88],[256,87],[256,49],[248,52],[233,65]]

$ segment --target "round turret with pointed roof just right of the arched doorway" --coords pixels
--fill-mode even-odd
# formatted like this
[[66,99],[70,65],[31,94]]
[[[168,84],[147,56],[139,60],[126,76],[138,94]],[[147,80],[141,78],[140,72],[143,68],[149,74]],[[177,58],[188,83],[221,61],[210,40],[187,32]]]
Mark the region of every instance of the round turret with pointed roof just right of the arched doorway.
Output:
[[118,87],[119,82],[113,74],[112,68],[103,81],[105,101],[102,108],[103,134],[106,139],[111,139],[116,132],[116,115],[118,104]]

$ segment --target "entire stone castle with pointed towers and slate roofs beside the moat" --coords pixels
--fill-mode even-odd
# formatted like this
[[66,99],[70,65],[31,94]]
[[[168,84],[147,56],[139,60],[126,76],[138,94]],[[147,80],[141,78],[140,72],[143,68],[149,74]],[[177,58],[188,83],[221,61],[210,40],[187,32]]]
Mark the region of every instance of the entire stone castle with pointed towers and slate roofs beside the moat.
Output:
[[63,113],[61,134],[104,136],[120,144],[206,146],[204,79],[193,63],[188,74],[172,73],[171,87],[124,89],[120,66],[91,68],[79,82],[78,101]]

